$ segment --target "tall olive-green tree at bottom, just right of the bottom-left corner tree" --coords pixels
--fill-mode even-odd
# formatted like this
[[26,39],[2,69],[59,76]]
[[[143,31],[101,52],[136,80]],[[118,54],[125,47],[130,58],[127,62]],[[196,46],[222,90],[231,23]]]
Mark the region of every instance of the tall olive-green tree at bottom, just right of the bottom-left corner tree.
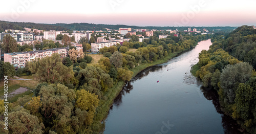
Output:
[[74,133],[71,126],[76,98],[74,90],[59,83],[50,84],[41,87],[39,96],[42,116],[51,122],[48,127],[57,133]]

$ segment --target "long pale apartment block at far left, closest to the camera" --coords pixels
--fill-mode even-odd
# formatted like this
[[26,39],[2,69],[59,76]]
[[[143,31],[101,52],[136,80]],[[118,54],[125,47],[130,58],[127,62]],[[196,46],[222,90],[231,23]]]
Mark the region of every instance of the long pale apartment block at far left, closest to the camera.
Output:
[[[77,47],[78,50],[82,49],[82,47]],[[61,58],[67,57],[69,52],[69,47],[66,48],[56,48],[56,49],[48,49],[48,50],[39,50],[39,51],[29,51],[29,52],[15,52],[15,53],[5,53],[4,61],[10,62],[13,64],[15,69],[17,68],[25,68],[27,62],[34,61],[37,58],[45,58],[47,56],[51,56],[53,53],[58,53],[61,55]]]

